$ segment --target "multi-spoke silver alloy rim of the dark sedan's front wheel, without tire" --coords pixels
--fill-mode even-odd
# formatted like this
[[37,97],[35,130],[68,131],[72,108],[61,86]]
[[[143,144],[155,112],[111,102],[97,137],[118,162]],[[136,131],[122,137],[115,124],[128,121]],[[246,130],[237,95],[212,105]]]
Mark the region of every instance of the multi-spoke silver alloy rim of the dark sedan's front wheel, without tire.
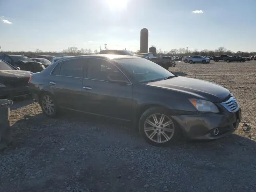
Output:
[[174,135],[174,123],[164,114],[152,114],[144,122],[146,136],[156,143],[165,143]]

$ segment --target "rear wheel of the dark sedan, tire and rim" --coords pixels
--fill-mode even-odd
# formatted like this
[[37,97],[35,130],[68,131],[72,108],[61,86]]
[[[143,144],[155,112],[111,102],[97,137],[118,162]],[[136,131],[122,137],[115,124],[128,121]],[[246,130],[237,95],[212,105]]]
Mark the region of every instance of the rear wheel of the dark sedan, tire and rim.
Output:
[[57,105],[54,96],[48,92],[40,96],[40,106],[42,112],[47,117],[55,117],[57,115]]

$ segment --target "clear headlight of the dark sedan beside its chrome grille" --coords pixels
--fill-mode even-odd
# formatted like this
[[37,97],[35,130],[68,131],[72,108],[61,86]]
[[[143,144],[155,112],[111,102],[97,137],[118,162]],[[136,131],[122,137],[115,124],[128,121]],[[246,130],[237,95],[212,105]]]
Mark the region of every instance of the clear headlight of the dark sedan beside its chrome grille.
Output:
[[189,99],[189,101],[200,112],[213,112],[213,113],[220,112],[217,106],[213,102],[201,100],[201,99]]

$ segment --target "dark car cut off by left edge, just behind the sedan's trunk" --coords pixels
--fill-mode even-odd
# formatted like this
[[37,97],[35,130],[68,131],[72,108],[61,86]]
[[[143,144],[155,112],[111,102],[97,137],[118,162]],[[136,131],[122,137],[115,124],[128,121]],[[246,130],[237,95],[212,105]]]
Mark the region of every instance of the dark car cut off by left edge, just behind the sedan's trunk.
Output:
[[14,99],[30,94],[30,74],[32,72],[18,70],[8,62],[0,60],[0,98]]

